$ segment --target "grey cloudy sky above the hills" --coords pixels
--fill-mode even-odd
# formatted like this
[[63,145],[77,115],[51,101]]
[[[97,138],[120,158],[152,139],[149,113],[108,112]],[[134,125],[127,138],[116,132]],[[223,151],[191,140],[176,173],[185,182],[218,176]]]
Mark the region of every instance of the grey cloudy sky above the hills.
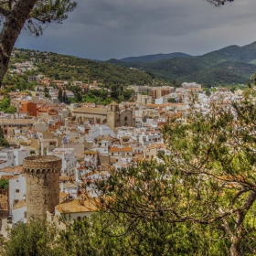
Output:
[[41,37],[23,31],[17,48],[88,59],[122,59],[181,51],[201,55],[256,41],[256,1],[219,8],[205,0],[77,0],[62,25]]

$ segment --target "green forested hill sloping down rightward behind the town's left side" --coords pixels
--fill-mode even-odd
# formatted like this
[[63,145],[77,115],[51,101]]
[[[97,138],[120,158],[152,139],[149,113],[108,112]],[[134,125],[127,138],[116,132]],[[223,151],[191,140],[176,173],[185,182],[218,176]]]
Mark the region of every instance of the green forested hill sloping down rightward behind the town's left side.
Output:
[[37,70],[29,71],[30,75],[40,73],[54,80],[97,80],[104,84],[118,85],[151,84],[153,82],[152,76],[144,71],[102,61],[17,48],[14,49],[12,55],[10,69],[14,68],[17,62],[33,61]]

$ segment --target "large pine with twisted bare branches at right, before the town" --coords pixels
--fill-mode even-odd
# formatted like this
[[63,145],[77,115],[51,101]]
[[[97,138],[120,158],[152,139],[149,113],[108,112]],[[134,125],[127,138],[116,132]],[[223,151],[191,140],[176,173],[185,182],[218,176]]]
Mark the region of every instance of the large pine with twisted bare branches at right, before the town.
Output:
[[126,227],[135,220],[175,224],[176,232],[180,223],[195,225],[193,237],[207,244],[195,255],[221,255],[221,247],[223,255],[229,248],[232,255],[255,255],[254,94],[249,89],[232,109],[207,114],[192,105],[186,123],[170,119],[162,130],[170,154],[97,181],[102,208],[129,216]]

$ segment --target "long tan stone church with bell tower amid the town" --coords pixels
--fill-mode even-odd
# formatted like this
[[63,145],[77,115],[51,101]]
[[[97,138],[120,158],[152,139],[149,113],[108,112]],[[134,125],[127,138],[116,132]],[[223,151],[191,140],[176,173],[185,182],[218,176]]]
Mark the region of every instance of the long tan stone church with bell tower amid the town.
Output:
[[79,122],[88,119],[91,123],[108,123],[112,129],[122,126],[135,127],[133,111],[127,107],[120,111],[118,103],[114,101],[109,104],[108,107],[109,108],[81,107],[74,110],[72,115],[75,116]]

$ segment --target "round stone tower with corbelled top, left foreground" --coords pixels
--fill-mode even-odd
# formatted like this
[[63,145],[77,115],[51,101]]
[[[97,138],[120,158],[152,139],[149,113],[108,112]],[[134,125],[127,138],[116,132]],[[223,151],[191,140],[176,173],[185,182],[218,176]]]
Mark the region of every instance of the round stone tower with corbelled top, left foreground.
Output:
[[26,175],[27,219],[43,219],[59,205],[61,158],[55,155],[28,156],[23,161]]

